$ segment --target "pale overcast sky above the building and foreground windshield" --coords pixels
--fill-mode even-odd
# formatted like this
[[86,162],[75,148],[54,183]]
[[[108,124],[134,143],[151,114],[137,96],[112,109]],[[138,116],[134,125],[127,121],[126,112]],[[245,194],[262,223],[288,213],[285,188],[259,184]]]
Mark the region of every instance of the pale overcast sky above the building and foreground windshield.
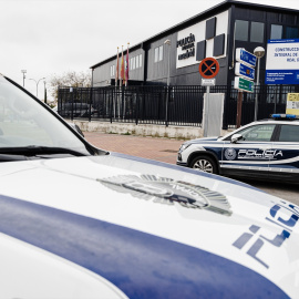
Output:
[[[243,0],[240,0],[243,1]],[[221,0],[0,0],[0,73],[37,93],[41,78],[89,71]],[[247,0],[299,9],[299,0]],[[43,81],[39,84],[43,97]]]

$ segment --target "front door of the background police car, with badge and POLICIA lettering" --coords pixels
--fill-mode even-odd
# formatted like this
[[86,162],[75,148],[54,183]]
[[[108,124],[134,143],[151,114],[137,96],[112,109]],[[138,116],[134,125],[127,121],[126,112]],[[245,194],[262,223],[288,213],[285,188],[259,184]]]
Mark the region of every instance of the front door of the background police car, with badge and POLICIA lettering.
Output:
[[[255,124],[238,131],[238,140],[225,140],[221,156],[221,173],[240,176],[267,176],[272,154],[276,124]],[[235,135],[236,136],[236,135]]]

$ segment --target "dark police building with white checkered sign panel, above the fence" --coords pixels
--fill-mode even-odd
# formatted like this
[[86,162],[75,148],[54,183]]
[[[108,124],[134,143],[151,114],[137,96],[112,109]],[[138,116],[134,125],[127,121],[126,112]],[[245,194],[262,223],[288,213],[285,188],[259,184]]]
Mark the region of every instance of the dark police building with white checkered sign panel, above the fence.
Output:
[[[291,9],[225,1],[131,47],[128,85],[166,85],[167,79],[171,85],[200,85],[198,65],[213,56],[220,66],[216,84],[231,86],[235,50],[252,53],[256,47],[267,50],[270,39],[298,39],[298,16]],[[260,61],[260,84],[266,55]],[[92,85],[114,85],[115,65],[116,54],[91,66]]]

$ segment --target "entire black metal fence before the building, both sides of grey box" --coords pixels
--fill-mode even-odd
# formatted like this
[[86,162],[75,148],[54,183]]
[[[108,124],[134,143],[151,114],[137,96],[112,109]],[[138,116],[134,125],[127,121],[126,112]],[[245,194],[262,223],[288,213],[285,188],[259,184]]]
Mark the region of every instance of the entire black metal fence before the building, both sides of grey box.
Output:
[[[241,125],[254,121],[258,97],[258,120],[285,113],[287,94],[297,85],[261,85],[243,94]],[[58,112],[63,117],[157,124],[202,126],[205,86],[127,86],[59,89]],[[213,86],[210,93],[225,94],[223,128],[236,126],[238,91]]]

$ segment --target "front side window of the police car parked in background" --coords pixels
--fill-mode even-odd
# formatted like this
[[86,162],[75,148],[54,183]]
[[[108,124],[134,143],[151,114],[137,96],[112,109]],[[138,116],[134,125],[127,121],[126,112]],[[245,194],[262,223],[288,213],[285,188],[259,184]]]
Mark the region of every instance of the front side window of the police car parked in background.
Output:
[[275,124],[255,125],[239,131],[238,134],[243,135],[243,141],[269,142],[271,141],[275,126]]

